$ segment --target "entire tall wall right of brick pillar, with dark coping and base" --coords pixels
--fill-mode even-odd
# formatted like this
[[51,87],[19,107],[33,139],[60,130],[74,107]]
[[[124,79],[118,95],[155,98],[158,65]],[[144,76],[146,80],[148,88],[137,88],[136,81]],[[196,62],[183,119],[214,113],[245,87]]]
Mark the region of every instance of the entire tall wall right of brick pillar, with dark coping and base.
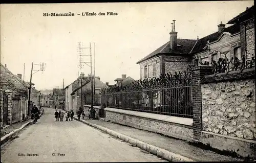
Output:
[[255,157],[255,69],[206,75],[201,90],[201,142]]

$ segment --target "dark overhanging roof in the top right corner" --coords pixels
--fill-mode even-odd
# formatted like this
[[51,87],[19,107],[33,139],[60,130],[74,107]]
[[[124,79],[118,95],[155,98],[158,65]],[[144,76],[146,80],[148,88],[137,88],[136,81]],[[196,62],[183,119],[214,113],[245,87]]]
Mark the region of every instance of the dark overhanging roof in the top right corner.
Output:
[[241,22],[243,20],[248,20],[252,17],[254,17],[254,5],[248,9],[246,9],[244,12],[239,14],[238,16],[232,18],[227,22],[227,24],[237,24],[238,22]]

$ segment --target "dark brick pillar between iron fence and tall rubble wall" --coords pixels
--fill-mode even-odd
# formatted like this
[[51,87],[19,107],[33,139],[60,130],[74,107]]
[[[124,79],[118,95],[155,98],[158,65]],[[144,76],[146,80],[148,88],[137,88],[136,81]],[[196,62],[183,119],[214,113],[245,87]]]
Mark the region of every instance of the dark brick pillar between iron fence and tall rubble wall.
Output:
[[194,139],[202,140],[202,92],[201,79],[211,74],[212,66],[196,66],[192,72],[192,105],[193,105],[193,133]]

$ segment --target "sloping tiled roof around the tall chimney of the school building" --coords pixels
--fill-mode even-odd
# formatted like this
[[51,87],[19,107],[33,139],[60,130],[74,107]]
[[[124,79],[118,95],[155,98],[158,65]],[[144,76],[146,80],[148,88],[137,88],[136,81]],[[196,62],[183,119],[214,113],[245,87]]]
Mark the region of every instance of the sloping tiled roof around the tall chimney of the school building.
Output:
[[[170,49],[170,41],[160,46],[157,50],[139,60],[137,63],[141,63],[147,59],[150,59],[159,54],[189,54],[197,40],[193,39],[177,39],[178,48],[176,50]],[[180,48],[179,48],[180,45]]]

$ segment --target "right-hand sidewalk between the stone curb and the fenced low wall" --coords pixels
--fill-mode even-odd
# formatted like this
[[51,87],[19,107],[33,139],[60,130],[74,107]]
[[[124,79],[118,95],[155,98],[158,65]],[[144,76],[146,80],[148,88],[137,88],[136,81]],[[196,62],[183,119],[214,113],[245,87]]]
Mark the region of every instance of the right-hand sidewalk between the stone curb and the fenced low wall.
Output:
[[[77,118],[76,115],[75,118]],[[123,126],[111,122],[88,119],[86,119],[86,121],[130,136],[147,144],[165,149],[169,152],[173,152],[175,154],[179,154],[181,156],[193,159],[195,161],[244,161],[244,159],[241,158],[233,158],[231,156],[218,154],[214,151],[204,150],[199,147],[190,145],[186,141],[166,137],[158,133],[140,130],[137,128]]]

